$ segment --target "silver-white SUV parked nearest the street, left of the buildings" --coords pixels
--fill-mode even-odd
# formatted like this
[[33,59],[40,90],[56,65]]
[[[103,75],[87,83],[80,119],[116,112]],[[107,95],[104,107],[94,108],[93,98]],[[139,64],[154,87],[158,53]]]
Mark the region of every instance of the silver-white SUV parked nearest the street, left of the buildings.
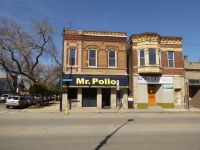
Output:
[[28,106],[28,101],[24,96],[12,95],[6,99],[6,108],[9,107],[20,107],[24,108]]

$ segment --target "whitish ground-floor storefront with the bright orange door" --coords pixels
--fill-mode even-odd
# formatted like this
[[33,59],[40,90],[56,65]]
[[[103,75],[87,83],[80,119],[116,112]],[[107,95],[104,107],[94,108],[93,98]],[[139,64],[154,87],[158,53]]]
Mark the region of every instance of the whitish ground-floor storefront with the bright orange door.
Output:
[[149,106],[174,107],[173,77],[138,76],[137,107]]

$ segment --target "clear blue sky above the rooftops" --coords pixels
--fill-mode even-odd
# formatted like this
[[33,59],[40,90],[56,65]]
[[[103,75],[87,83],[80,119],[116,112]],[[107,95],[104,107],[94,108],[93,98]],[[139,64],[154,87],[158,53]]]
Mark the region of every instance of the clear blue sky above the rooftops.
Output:
[[183,55],[200,60],[200,1],[198,0],[1,0],[0,16],[29,25],[31,19],[48,18],[57,30],[62,49],[64,27],[131,34],[156,32],[181,36]]

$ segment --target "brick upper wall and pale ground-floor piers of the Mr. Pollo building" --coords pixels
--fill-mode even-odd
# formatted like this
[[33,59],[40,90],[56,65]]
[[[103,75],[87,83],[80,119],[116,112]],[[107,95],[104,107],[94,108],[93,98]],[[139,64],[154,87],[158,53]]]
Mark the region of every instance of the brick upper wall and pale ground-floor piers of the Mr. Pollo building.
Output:
[[[125,32],[103,32],[65,30],[63,47],[63,70],[65,75],[98,75],[98,76],[128,76],[127,50]],[[75,65],[69,65],[69,51],[76,49]],[[95,49],[97,62],[95,67],[88,66],[88,50]],[[108,67],[108,50],[116,51],[116,67]],[[127,106],[127,89],[123,90],[124,104]],[[67,99],[67,86],[63,88],[63,108],[69,107]],[[82,108],[82,88],[78,88],[77,102],[72,103],[72,108]],[[111,88],[110,107],[116,108],[116,88]],[[97,108],[102,108],[102,88],[97,88]]]

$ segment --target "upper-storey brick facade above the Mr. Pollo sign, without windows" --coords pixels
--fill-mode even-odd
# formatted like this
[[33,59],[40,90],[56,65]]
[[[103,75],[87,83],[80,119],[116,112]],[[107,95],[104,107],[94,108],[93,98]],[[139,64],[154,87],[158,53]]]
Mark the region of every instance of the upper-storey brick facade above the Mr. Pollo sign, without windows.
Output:
[[[64,35],[65,73],[70,72],[69,50],[76,49],[76,65],[73,73],[127,75],[127,51],[125,32],[101,32],[66,30]],[[88,66],[88,50],[97,51],[97,66]],[[108,51],[116,51],[116,67],[108,67]],[[79,70],[79,71],[78,71]]]

